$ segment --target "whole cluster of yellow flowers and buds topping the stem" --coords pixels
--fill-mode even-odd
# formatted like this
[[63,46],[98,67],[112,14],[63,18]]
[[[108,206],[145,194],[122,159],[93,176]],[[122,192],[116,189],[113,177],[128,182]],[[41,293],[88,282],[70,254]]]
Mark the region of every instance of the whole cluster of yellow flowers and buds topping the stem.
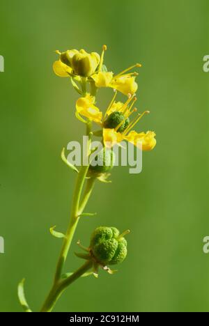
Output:
[[[104,52],[107,46],[104,45],[101,56],[92,52],[88,54],[84,49],[68,50],[59,52],[59,60],[54,62],[53,68],[56,75],[60,77],[70,77],[72,85],[82,95],[76,102],[76,116],[80,121],[92,121],[100,125],[102,143],[105,147],[111,148],[121,141],[130,141],[134,146],[142,150],[152,150],[156,145],[155,132],[136,132],[133,128],[139,120],[149,111],[137,114],[137,108],[134,104],[137,100],[137,72],[130,72],[141,65],[137,63],[132,67],[123,70],[118,75],[107,70],[104,65]],[[81,88],[77,85],[81,85]],[[91,85],[91,91],[88,92],[86,85]],[[110,87],[114,89],[114,97],[109,107],[103,114],[95,102],[95,93],[98,88]],[[127,100],[117,102],[117,92],[127,96]],[[130,116],[135,114],[131,120]]]

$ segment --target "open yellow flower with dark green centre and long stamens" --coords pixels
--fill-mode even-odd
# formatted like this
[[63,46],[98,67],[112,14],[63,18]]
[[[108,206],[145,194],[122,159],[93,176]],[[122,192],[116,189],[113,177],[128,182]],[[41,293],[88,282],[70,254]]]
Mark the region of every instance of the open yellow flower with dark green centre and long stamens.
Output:
[[[137,98],[130,95],[125,104],[115,102],[116,95],[109,104],[103,121],[103,141],[104,146],[112,147],[122,140],[130,141],[134,146],[142,148],[142,150],[152,150],[156,145],[155,132],[135,132],[132,130],[139,120],[148,114],[149,111],[144,111],[143,114],[138,114],[132,122],[129,117],[137,109],[132,107]],[[106,117],[106,118],[105,118]]]

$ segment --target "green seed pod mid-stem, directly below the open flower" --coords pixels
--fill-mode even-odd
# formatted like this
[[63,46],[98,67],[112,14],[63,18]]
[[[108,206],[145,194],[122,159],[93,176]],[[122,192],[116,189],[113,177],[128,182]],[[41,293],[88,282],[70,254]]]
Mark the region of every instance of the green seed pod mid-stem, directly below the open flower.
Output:
[[110,148],[102,148],[98,155],[95,157],[94,162],[90,164],[89,170],[90,172],[95,173],[106,173],[110,171],[115,162],[115,154],[114,151]]

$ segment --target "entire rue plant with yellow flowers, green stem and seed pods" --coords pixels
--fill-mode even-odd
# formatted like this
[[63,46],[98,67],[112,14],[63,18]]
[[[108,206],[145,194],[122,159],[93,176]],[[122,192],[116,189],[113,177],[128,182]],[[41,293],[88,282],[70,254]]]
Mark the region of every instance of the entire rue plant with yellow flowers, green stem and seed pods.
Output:
[[[136,77],[138,73],[130,71],[134,68],[140,68],[141,65],[137,63],[115,75],[114,72],[108,71],[104,65],[104,52],[106,50],[107,47],[104,45],[101,56],[96,52],[88,54],[84,49],[80,51],[77,49],[65,52],[56,51],[59,59],[53,65],[55,74],[70,79],[72,87],[79,93],[79,98],[75,104],[75,116],[86,125],[88,146],[85,155],[88,163],[78,169],[68,162],[65,157],[65,148],[63,148],[61,158],[70,169],[77,173],[77,180],[67,231],[63,234],[55,231],[55,227],[50,228],[54,237],[63,239],[63,245],[56,265],[52,288],[40,309],[42,312],[52,311],[63,291],[79,277],[87,277],[91,274],[98,277],[99,268],[113,274],[115,270],[111,270],[109,265],[123,262],[127,255],[127,242],[124,237],[130,231],[120,233],[117,228],[100,226],[93,231],[89,247],[83,247],[78,242],[83,251],[76,253],[76,255],[85,260],[84,265],[73,273],[63,272],[77,224],[82,216],[93,215],[93,213],[86,213],[84,210],[95,182],[99,180],[103,183],[109,183],[109,171],[114,166],[112,148],[119,146],[124,140],[130,141],[135,146],[140,146],[142,150],[152,150],[156,144],[155,132],[136,132],[133,129],[139,120],[149,113],[149,111],[144,111],[137,114],[137,109],[134,106],[137,100]],[[96,95],[98,89],[107,87],[112,88],[114,94],[103,114],[97,106]],[[124,102],[116,100],[118,92],[125,95]],[[95,130],[94,125],[98,125],[100,129]],[[102,150],[95,157],[98,164],[89,162],[89,157],[94,151],[91,146],[93,136],[100,137],[102,143]],[[31,312],[24,296],[24,279],[18,286],[18,296],[24,311]]]

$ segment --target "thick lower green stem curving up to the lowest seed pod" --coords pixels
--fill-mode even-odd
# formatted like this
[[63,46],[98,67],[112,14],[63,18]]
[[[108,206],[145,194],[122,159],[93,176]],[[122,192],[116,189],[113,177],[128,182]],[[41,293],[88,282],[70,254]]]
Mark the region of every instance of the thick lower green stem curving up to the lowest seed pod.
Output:
[[88,270],[90,270],[92,264],[93,263],[91,261],[86,261],[86,263],[82,267],[80,267],[75,273],[73,273],[70,277],[59,281],[57,284],[54,284],[40,312],[52,311],[54,305],[56,304],[56,301],[59,299],[59,297],[61,297],[64,290],[68,288],[68,286],[72,284],[72,282],[76,281],[79,277],[81,277]]

